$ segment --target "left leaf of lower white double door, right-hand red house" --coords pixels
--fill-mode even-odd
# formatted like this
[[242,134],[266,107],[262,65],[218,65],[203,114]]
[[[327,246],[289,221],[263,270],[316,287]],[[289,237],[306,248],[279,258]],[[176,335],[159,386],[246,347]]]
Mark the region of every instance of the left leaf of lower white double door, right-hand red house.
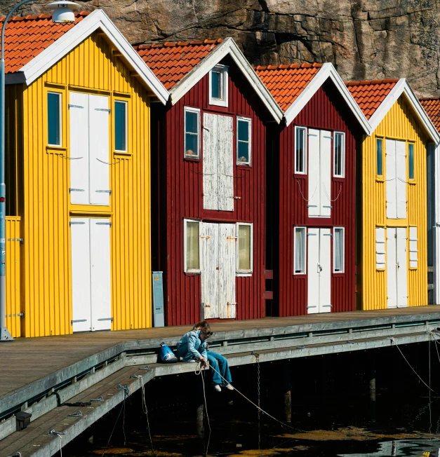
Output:
[[319,313],[319,228],[307,230],[307,313]]

